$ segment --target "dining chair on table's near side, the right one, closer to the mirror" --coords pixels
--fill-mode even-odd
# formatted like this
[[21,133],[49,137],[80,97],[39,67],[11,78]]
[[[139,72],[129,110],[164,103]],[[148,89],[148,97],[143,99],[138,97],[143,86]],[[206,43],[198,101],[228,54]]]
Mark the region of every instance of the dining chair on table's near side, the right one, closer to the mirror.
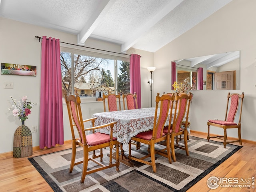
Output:
[[[170,140],[166,140],[164,142],[160,142],[159,144],[167,145],[170,143],[170,148],[172,151],[172,160],[176,162],[176,155],[175,155],[175,148],[180,148],[186,151],[186,155],[189,156],[188,151],[188,115],[190,109],[190,103],[192,99],[192,94],[185,94],[185,93],[175,93],[175,99],[173,104],[174,116],[172,120],[172,125],[169,128],[166,126],[164,127],[163,132],[165,134],[170,134]],[[183,122],[184,116],[186,114],[186,120]],[[184,135],[184,145],[180,145],[178,136]],[[175,139],[176,138],[176,139]],[[169,141],[169,142],[168,142]],[[166,149],[163,149],[160,152],[163,152]],[[159,151],[158,151],[159,153]]]

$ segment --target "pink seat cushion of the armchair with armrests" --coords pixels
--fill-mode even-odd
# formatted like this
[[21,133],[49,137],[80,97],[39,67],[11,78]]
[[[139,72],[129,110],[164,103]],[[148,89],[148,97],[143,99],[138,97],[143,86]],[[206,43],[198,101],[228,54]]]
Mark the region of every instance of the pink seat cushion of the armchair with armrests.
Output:
[[[110,135],[96,132],[93,134],[86,135],[87,144],[90,146],[99,145],[102,143],[107,143],[110,141]],[[113,137],[113,141],[117,140],[116,137]]]

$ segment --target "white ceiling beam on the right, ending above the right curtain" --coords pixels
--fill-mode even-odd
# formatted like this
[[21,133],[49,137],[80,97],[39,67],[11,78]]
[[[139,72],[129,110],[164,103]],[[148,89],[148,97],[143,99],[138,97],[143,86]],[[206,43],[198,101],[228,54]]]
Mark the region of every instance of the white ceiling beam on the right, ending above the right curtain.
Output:
[[121,46],[121,52],[125,53],[129,48],[131,48],[136,42],[138,42],[139,38],[144,36],[150,28],[152,28],[156,23],[158,23],[162,18],[164,18],[168,13],[170,13],[176,6],[178,6],[183,0],[172,0],[170,3],[165,6],[156,16],[154,16],[151,20],[149,20],[144,26],[140,27],[140,30],[132,36],[130,36],[129,40],[126,41]]

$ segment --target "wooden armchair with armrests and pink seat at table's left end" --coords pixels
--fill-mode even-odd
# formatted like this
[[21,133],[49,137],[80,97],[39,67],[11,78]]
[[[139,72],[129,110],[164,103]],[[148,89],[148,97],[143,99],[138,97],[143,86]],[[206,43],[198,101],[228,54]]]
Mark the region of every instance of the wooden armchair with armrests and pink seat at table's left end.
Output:
[[[69,96],[65,94],[65,101],[68,108],[68,118],[70,122],[71,134],[72,134],[72,158],[70,162],[69,172],[71,173],[73,171],[73,168],[75,165],[82,163],[83,168],[82,168],[82,176],[81,176],[80,182],[83,183],[85,176],[87,174],[91,174],[100,170],[111,168],[113,166],[116,166],[116,170],[118,171],[119,170],[119,148],[118,148],[119,142],[117,141],[117,138],[113,137],[113,126],[114,124],[116,124],[116,122],[110,122],[108,124],[95,127],[94,121],[96,118],[83,120],[81,106],[80,106],[81,100],[78,94],[69,95]],[[91,122],[92,127],[84,128],[84,122]],[[95,130],[104,128],[106,126],[110,126],[110,134],[95,132]],[[76,138],[75,136],[74,127],[76,127],[79,138]],[[92,134],[86,135],[85,134],[86,131],[91,131]],[[78,162],[76,162],[77,146],[82,147],[83,154],[84,154],[83,159]],[[116,146],[116,162],[115,163],[112,163],[113,146]],[[102,163],[102,158],[103,158],[102,148],[106,148],[106,147],[109,147],[110,149],[108,165],[104,165]],[[100,154],[96,155],[95,150],[100,150]],[[89,156],[89,153],[92,153],[92,156],[91,155]],[[96,160],[96,158],[100,158],[100,161]],[[92,161],[100,167],[87,170],[88,161]]]

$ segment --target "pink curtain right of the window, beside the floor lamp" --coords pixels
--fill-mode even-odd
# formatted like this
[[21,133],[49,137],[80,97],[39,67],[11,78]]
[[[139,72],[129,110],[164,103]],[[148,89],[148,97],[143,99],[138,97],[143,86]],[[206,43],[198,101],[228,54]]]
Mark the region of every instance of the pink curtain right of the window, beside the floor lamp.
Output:
[[131,54],[130,57],[130,92],[137,94],[138,108],[141,108],[141,89],[140,89],[140,55]]

